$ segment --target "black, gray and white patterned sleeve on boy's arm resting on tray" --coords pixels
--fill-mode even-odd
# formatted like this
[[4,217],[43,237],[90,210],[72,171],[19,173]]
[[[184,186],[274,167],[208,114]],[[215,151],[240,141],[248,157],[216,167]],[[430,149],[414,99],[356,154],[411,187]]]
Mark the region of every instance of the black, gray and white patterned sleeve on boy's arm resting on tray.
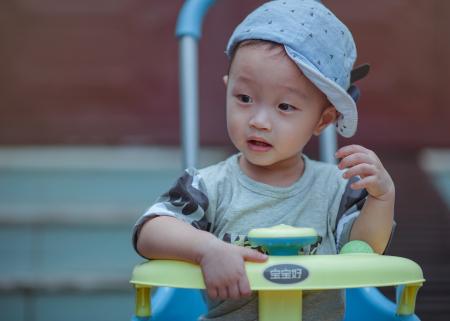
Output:
[[186,169],[175,184],[138,219],[133,228],[133,247],[137,253],[137,239],[142,226],[157,216],[171,216],[184,221],[193,227],[211,230],[208,220],[209,200],[206,185],[198,170]]

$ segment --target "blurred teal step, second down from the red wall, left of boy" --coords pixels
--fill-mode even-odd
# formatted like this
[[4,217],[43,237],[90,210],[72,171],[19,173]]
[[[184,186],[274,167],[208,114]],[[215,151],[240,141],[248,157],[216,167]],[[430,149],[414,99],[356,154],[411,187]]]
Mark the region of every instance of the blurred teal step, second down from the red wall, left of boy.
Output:
[[115,290],[142,259],[132,225],[0,226],[0,290]]

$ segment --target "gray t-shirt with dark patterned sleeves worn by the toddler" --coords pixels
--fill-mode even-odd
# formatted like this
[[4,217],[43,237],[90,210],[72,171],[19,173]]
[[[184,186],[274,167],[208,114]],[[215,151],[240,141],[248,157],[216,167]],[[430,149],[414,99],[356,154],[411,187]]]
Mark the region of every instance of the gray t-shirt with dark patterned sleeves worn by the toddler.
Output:
[[[168,215],[209,231],[219,239],[250,246],[253,228],[287,224],[311,227],[321,241],[306,254],[335,254],[348,242],[367,192],[349,188],[335,165],[310,160],[303,155],[302,177],[289,187],[275,187],[252,180],[239,167],[240,154],[204,169],[188,169],[138,220],[133,244],[142,225],[150,218]],[[137,249],[136,249],[137,250]],[[210,300],[200,320],[255,321],[257,295],[241,300]],[[304,292],[303,320],[341,320],[344,291]]]

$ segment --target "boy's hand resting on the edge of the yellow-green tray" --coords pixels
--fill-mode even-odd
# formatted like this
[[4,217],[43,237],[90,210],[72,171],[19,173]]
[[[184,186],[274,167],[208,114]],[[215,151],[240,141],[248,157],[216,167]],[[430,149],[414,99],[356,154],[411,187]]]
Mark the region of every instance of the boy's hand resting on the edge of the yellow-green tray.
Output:
[[211,299],[239,299],[251,294],[244,261],[264,262],[267,255],[219,239],[208,244],[200,266]]

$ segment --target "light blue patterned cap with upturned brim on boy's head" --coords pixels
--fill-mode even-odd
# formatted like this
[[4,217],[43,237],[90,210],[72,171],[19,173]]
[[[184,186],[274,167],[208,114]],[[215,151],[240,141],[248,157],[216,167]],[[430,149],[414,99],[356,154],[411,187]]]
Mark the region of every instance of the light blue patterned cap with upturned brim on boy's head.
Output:
[[282,44],[287,55],[339,111],[336,130],[344,137],[356,132],[356,103],[347,93],[356,60],[356,46],[348,28],[315,0],[274,0],[255,9],[228,41],[232,56],[244,40]]

